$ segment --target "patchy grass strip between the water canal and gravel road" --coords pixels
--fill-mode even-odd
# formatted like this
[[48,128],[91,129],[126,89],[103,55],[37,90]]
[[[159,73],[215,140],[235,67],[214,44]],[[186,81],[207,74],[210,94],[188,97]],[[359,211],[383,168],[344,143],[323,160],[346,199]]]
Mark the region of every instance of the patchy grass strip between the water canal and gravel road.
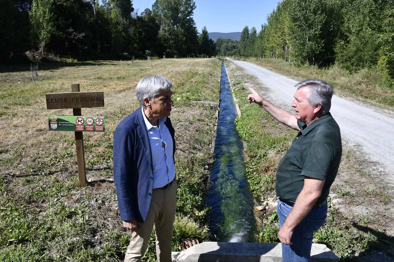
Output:
[[[275,196],[277,165],[297,132],[279,123],[263,108],[249,104],[247,95],[250,92],[247,87],[252,86],[264,93],[264,86],[255,77],[245,75],[234,63],[226,61],[225,64],[242,113],[242,117],[237,117],[235,125],[240,137],[247,143],[244,153],[247,180],[255,196],[255,204],[261,205],[261,197],[268,199]],[[394,255],[394,238],[385,233],[391,221],[387,210],[392,209],[390,199],[393,196],[381,184],[384,181],[371,181],[373,174],[370,171],[368,161],[344,145],[340,169],[330,193],[335,193],[336,198],[344,204],[341,210],[352,210],[363,204],[362,208],[372,207],[373,212],[365,211],[364,215],[342,213],[338,209],[340,205],[335,205],[334,208],[329,198],[327,220],[315,233],[314,242],[326,244],[342,261],[367,261],[363,257],[370,251],[384,251],[390,256]],[[379,211],[376,206],[386,211]],[[261,232],[258,241],[279,242],[276,211],[264,216],[256,213],[256,218]]]

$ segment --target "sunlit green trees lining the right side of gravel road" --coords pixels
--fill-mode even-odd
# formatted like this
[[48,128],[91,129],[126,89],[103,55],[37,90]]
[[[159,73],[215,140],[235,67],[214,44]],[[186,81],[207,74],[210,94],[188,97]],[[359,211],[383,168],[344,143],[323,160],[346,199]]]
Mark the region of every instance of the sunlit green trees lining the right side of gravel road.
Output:
[[319,67],[336,63],[350,72],[373,68],[394,79],[394,2],[282,0],[260,32],[245,26],[238,48],[229,43],[220,46],[219,54]]

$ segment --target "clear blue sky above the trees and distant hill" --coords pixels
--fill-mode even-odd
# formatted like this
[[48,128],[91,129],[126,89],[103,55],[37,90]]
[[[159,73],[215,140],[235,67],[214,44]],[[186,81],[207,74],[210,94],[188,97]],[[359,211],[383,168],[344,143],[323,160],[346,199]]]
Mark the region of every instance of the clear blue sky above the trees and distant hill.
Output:
[[[198,31],[206,26],[208,32],[240,32],[243,27],[256,27],[267,21],[267,15],[277,6],[279,0],[195,0],[194,21]],[[133,0],[133,7],[152,8],[155,0]]]

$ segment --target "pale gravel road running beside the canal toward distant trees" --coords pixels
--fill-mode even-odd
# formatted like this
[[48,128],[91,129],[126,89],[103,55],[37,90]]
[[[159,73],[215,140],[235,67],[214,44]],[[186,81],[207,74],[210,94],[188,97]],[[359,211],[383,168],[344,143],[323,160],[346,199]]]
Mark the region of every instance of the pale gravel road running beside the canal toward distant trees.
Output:
[[[294,99],[294,85],[297,81],[256,64],[238,60],[232,62],[243,67],[248,74],[256,76],[269,88],[268,93],[264,94],[269,101],[294,114],[290,104]],[[373,108],[358,101],[355,103],[337,95],[333,96],[331,103],[330,112],[341,129],[342,140],[362,150],[372,161],[380,163],[379,169],[384,171],[383,174],[391,183],[394,183],[392,112]]]

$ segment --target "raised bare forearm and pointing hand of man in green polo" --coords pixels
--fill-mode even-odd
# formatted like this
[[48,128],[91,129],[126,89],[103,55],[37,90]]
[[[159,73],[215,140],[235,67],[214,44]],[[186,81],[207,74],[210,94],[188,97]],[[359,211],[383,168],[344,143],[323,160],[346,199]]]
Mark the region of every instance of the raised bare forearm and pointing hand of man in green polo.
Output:
[[275,117],[275,119],[279,122],[293,129],[300,130],[297,125],[297,119],[294,115],[262,98],[261,95],[259,95],[255,90],[253,90],[253,88],[249,87],[249,90],[252,92],[247,97],[250,104],[256,103],[259,106],[262,106],[270,115]]

